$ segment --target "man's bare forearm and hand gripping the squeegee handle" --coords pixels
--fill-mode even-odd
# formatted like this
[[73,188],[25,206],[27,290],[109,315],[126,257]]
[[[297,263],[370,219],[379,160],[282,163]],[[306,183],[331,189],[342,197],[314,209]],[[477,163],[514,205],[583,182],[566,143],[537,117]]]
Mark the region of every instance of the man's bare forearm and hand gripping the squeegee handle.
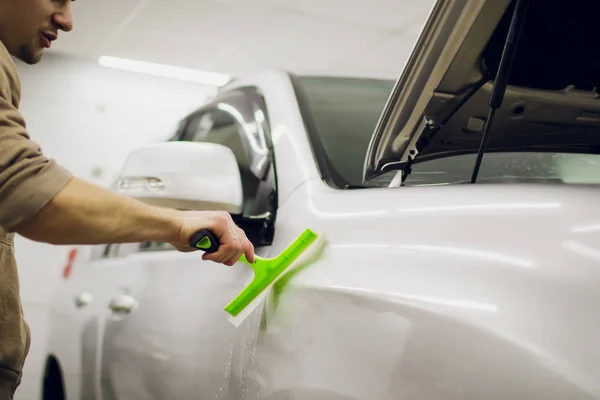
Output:
[[14,227],[28,239],[51,244],[157,241],[173,243],[181,251],[193,250],[189,238],[199,229],[210,229],[221,242],[219,251],[204,259],[233,265],[246,253],[253,262],[252,244],[228,213],[153,207],[78,178],[72,178],[39,213]]

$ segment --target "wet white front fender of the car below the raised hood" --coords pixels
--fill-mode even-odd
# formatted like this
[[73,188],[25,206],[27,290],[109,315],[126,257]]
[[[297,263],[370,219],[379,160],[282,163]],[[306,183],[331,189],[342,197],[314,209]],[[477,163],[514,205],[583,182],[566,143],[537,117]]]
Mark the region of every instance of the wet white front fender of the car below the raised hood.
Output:
[[233,364],[245,382],[236,393],[599,398],[600,213],[588,203],[598,194],[541,185],[349,194],[308,182],[277,228],[325,231],[329,246],[239,328],[234,354],[251,356]]

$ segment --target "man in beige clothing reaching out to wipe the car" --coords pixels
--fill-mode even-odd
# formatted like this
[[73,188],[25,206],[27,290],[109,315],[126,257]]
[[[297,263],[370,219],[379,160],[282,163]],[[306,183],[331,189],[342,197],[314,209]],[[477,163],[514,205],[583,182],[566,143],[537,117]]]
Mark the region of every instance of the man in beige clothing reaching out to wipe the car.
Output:
[[13,237],[51,244],[170,242],[192,251],[190,236],[210,229],[222,245],[205,260],[254,260],[244,232],[223,212],[147,206],[75,178],[30,140],[18,111],[20,81],[11,55],[40,61],[59,31],[73,28],[69,0],[0,0],[0,400],[12,399],[29,351]]

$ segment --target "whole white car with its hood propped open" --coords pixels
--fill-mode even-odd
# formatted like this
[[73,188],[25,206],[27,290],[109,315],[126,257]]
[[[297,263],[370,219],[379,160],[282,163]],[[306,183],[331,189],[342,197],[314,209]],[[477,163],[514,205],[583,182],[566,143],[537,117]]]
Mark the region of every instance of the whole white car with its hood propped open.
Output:
[[79,248],[44,398],[599,399],[600,5],[526,6],[439,1],[397,82],[245,77],[132,153],[125,193],[258,255],[328,244],[237,328],[246,265]]

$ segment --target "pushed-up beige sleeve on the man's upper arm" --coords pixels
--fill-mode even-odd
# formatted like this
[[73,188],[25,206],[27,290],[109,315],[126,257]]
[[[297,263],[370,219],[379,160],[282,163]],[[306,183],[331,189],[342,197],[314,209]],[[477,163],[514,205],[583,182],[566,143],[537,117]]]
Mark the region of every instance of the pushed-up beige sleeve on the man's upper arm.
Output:
[[[5,49],[1,49],[4,50]],[[62,190],[72,174],[47,158],[32,141],[15,105],[16,68],[0,50],[0,226],[11,232],[34,217]]]

